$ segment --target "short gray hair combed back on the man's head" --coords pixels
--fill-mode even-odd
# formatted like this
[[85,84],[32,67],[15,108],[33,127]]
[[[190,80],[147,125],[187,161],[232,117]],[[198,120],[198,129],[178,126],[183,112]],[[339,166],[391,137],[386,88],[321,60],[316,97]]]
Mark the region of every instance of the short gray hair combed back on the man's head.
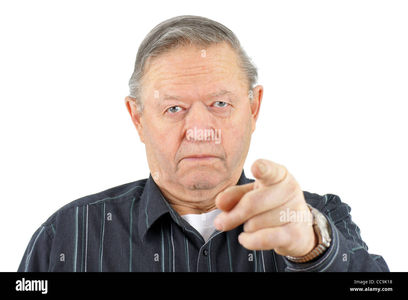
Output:
[[[147,72],[146,61],[155,59],[161,54],[168,53],[182,45],[195,46],[210,45],[217,42],[227,42],[235,50],[237,64],[242,69],[248,84],[248,93],[258,80],[258,71],[255,64],[244,49],[235,34],[224,25],[200,16],[177,16],[156,25],[144,38],[137,50],[135,69],[129,80],[129,97],[135,98],[137,110],[143,112],[143,86]],[[151,61],[150,61],[151,62]],[[249,93],[252,103],[252,92]]]

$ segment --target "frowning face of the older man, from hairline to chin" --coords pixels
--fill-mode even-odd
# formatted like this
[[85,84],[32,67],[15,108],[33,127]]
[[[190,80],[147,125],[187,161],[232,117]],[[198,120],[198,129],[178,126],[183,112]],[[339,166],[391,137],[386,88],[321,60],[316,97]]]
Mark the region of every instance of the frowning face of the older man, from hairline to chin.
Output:
[[[257,116],[251,114],[233,49],[227,44],[183,46],[153,60],[145,82],[137,130],[155,181],[195,190],[239,177]],[[220,91],[230,94],[211,96]],[[164,95],[180,98],[162,101]],[[206,138],[200,135],[204,131]]]

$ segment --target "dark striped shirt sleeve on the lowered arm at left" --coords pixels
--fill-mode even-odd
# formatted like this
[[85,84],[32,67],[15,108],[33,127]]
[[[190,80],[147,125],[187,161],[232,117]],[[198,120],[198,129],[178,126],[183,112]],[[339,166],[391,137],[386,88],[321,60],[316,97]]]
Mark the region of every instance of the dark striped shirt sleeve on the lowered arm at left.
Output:
[[52,247],[52,228],[41,225],[30,239],[17,272],[47,272]]

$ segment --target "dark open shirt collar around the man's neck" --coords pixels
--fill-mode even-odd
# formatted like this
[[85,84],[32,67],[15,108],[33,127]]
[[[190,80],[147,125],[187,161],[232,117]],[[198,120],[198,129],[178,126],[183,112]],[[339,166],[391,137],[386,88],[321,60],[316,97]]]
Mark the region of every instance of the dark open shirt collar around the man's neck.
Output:
[[[246,178],[244,170],[242,170],[241,177],[239,177],[237,185],[246,184],[253,181],[253,179],[251,180]],[[146,232],[149,230],[152,224],[165,213],[170,213],[171,218],[173,218],[174,222],[176,222],[178,225],[180,225],[182,222],[182,217],[164,199],[159,187],[153,180],[152,175],[149,174],[149,178],[146,181],[146,185],[144,186],[143,193],[140,198],[139,215],[137,218],[139,236],[142,242],[144,241]]]

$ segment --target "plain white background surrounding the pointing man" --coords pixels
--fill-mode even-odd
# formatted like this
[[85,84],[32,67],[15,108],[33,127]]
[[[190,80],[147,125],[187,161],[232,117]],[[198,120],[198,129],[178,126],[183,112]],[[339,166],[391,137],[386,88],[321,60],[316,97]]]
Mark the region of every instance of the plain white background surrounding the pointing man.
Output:
[[244,171],[266,158],[352,208],[368,252],[406,271],[406,1],[1,2],[1,271],[77,198],[149,176],[124,97],[158,23],[230,28],[264,98]]

